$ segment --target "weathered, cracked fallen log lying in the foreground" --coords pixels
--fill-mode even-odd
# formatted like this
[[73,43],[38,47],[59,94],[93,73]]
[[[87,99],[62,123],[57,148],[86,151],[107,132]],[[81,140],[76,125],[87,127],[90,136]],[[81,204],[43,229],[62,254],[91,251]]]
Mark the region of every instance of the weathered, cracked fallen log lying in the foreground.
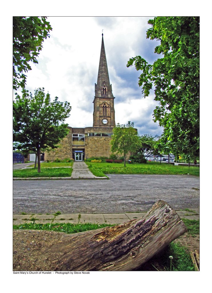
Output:
[[46,252],[58,255],[59,271],[128,271],[139,268],[186,231],[178,214],[159,200],[141,219],[66,234]]

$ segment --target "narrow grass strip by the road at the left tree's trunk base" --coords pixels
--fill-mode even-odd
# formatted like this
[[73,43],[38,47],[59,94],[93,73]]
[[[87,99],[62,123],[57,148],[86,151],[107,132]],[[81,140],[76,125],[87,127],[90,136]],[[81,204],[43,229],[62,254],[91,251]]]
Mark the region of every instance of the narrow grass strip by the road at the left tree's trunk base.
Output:
[[70,177],[72,168],[41,168],[40,173],[37,169],[23,169],[13,171],[14,178],[32,178],[32,177]]

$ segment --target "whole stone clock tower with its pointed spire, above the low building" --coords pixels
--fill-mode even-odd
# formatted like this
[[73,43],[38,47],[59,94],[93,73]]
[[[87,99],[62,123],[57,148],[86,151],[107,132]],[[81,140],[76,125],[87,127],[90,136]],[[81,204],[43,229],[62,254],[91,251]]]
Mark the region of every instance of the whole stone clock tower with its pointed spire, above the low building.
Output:
[[97,84],[93,101],[93,127],[114,127],[115,110],[112,85],[110,84],[102,34],[102,47],[99,61]]

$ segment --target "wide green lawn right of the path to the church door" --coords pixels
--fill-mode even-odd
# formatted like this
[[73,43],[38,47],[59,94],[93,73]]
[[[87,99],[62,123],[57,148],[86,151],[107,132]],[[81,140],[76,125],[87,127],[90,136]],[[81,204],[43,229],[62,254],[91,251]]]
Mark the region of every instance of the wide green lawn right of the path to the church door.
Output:
[[105,174],[184,174],[199,176],[198,167],[174,166],[166,163],[147,162],[146,164],[122,163],[91,163],[86,162],[88,168],[95,176]]

